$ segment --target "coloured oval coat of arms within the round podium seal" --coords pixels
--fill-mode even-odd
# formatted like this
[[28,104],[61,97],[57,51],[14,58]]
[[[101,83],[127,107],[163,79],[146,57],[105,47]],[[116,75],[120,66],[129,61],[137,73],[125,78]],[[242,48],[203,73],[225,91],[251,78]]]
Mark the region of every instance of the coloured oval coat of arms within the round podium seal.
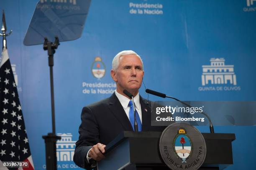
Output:
[[173,145],[174,153],[177,158],[180,158],[182,163],[187,163],[186,160],[192,155],[193,145],[184,128],[178,130]]

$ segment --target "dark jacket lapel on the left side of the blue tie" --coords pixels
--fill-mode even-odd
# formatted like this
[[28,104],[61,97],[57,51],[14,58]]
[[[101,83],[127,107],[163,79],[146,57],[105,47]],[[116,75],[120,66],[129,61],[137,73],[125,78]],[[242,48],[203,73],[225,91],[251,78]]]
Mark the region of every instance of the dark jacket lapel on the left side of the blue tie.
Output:
[[109,98],[109,109],[117,120],[123,125],[124,130],[133,131],[131,122],[123,110],[123,106],[118,100],[118,97],[116,97],[115,92]]

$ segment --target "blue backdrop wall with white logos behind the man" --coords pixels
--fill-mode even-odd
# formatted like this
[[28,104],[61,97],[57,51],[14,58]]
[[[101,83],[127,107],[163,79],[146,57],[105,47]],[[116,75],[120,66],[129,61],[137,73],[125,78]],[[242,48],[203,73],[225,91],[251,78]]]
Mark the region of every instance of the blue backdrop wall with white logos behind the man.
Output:
[[[48,57],[42,45],[23,45],[37,2],[0,4],[8,30],[13,29],[8,52],[33,162],[41,170],[41,136],[51,132]],[[134,50],[142,57],[147,88],[181,100],[256,100],[255,18],[256,1],[250,0],[92,0],[82,37],[62,42],[54,56],[56,132],[68,139],[57,143],[58,168],[77,168],[72,154],[82,107],[115,90],[111,62],[121,50]],[[103,74],[93,73],[95,69]],[[140,94],[147,97],[144,90],[141,87]],[[209,132],[208,127],[197,128]],[[256,169],[255,126],[218,126],[215,132],[236,134],[234,165],[228,169]]]

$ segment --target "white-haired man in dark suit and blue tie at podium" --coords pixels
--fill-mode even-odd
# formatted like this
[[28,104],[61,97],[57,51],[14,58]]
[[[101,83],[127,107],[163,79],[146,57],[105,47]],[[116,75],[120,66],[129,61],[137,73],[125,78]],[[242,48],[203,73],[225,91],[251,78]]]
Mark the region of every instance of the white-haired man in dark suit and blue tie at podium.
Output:
[[131,114],[133,106],[123,90],[128,90],[135,96],[138,130],[160,131],[159,128],[151,127],[149,102],[138,94],[143,75],[143,62],[136,52],[125,50],[114,57],[111,77],[116,82],[115,92],[109,98],[82,110],[79,140],[74,152],[74,162],[79,167],[94,168],[95,160],[105,158],[103,154],[108,143],[123,131],[134,130],[134,114]]

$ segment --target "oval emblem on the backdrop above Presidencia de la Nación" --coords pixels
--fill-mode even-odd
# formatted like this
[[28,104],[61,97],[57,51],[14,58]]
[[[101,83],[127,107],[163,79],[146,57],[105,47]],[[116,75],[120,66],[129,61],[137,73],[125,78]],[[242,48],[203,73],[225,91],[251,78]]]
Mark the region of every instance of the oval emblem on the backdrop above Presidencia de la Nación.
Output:
[[100,57],[95,57],[94,62],[92,63],[91,70],[92,70],[92,75],[96,77],[98,80],[104,77],[106,72],[106,67]]

